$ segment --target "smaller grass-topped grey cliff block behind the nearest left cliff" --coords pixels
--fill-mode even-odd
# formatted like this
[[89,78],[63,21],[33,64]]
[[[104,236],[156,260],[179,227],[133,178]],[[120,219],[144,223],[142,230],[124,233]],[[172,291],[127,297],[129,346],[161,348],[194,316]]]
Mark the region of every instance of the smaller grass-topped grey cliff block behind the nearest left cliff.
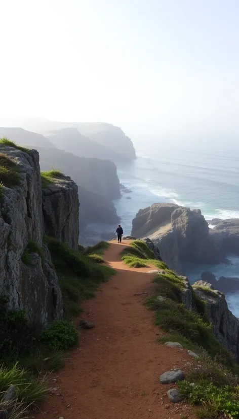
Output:
[[77,185],[68,177],[43,189],[43,218],[47,235],[77,250],[79,237],[79,199]]

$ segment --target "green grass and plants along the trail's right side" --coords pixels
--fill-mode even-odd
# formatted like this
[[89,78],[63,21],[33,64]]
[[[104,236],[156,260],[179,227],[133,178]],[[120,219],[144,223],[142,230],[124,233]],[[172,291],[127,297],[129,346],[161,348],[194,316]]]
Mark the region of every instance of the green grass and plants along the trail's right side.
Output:
[[[135,264],[155,266],[155,260],[146,257],[142,248],[139,240],[133,241],[122,252],[122,260],[129,264],[131,257]],[[204,301],[186,286],[183,277],[163,265],[145,302],[155,312],[155,324],[167,332],[159,341],[179,342],[200,356],[200,362],[192,363],[186,379],[178,383],[181,395],[195,405],[201,419],[239,417],[239,367],[214,336]],[[212,297],[216,294],[209,288],[203,291]],[[191,293],[193,310],[184,304],[185,292]]]

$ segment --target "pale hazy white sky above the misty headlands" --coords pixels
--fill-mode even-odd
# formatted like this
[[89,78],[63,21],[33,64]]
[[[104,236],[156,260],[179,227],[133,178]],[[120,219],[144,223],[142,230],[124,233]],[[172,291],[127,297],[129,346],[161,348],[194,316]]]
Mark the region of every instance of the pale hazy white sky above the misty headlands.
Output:
[[2,0],[0,16],[1,115],[238,142],[238,0]]

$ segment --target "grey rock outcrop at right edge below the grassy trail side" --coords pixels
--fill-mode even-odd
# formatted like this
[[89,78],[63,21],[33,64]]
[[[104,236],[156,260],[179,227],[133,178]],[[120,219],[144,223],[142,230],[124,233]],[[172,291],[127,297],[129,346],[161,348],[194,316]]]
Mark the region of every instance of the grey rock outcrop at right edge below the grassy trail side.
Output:
[[[211,292],[207,292],[206,288]],[[219,291],[212,291],[211,284],[205,282],[202,284],[202,281],[195,283],[193,289],[197,296],[205,302],[205,313],[208,322],[213,326],[214,336],[238,360],[239,321],[228,309],[224,294]]]

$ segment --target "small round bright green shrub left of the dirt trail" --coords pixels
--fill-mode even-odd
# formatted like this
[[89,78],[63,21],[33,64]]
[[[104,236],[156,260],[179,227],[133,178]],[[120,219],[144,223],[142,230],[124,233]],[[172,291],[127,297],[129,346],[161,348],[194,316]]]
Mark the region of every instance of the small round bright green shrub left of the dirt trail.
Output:
[[78,332],[72,322],[54,320],[50,327],[42,333],[41,340],[49,349],[68,350],[78,342]]

